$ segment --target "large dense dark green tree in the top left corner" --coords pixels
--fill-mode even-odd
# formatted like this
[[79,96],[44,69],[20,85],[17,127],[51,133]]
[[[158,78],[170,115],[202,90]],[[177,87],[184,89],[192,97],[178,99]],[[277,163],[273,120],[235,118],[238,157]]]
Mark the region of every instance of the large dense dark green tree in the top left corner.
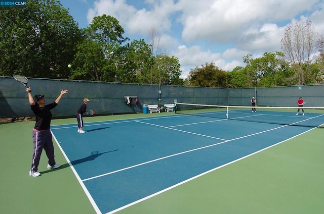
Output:
[[28,1],[1,8],[0,75],[68,78],[80,40],[77,24],[56,0]]

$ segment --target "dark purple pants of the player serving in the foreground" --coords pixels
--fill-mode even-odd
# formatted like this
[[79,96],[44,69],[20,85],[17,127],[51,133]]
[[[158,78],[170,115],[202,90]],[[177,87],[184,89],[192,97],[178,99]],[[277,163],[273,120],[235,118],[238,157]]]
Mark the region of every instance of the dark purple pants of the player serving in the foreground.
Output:
[[49,158],[49,165],[54,166],[54,145],[51,130],[37,131],[33,129],[32,139],[34,141],[34,153],[32,155],[31,172],[38,171],[39,160],[41,159],[43,148]]

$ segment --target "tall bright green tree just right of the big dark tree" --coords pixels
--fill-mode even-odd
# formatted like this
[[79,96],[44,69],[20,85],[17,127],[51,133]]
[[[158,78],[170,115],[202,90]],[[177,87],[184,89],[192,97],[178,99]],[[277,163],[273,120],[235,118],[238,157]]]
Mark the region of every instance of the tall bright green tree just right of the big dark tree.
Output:
[[[123,43],[129,39],[123,34],[123,27],[114,17],[95,17],[84,30],[84,40],[78,45],[74,63],[79,69],[73,70],[73,77],[87,79],[91,76],[95,81],[116,81],[118,66],[125,61],[128,48]],[[90,44],[94,46],[90,47]]]

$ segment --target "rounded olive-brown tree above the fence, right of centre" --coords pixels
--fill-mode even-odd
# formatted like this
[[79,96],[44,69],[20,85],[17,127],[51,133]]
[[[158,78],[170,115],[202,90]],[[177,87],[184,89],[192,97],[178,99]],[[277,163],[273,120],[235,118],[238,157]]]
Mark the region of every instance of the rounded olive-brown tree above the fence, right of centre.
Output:
[[226,72],[218,68],[214,62],[206,63],[201,68],[195,67],[189,71],[191,86],[227,87]]

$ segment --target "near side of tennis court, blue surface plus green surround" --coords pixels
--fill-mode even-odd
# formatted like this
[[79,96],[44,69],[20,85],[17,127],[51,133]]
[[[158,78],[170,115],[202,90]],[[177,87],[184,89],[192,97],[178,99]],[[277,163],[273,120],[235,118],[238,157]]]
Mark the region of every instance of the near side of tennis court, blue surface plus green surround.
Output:
[[[63,165],[47,170],[43,155],[39,178],[28,176],[33,122],[0,125],[6,136],[14,136],[15,129],[22,132],[14,139],[4,137],[14,145],[2,143],[2,163],[17,169],[10,176],[2,174],[4,181],[16,183],[11,188],[3,186],[6,196],[2,201],[13,204],[10,193],[15,187],[23,194],[18,198],[26,197],[25,208],[32,207],[34,200],[23,190],[36,189],[37,207],[48,213],[324,210],[322,128],[174,113],[88,117],[85,121],[86,133],[78,134],[74,119],[53,120],[56,159]],[[17,181],[23,181],[18,188]],[[43,191],[54,193],[53,197]],[[58,204],[51,205],[49,198]],[[2,206],[7,213],[22,209]]]

